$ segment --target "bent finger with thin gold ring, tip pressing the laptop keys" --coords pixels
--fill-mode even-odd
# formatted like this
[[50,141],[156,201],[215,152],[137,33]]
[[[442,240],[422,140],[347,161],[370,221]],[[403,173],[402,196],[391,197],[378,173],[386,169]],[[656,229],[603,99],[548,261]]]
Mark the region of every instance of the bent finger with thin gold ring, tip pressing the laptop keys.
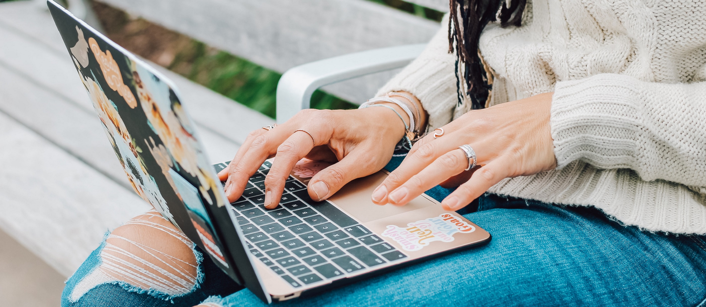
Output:
[[[311,129],[313,131],[313,129]],[[320,138],[321,139],[321,138]],[[306,156],[317,144],[313,143],[309,133],[296,131],[277,147],[275,160],[265,177],[265,207],[273,209],[280,203],[285,182],[292,172],[294,164]],[[259,166],[259,165],[258,165]]]

